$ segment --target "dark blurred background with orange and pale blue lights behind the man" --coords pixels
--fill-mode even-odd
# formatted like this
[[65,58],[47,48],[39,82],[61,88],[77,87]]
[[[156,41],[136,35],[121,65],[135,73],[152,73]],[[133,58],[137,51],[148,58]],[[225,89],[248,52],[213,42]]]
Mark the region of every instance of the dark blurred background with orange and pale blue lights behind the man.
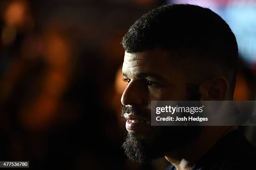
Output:
[[[235,100],[256,100],[254,0],[1,0],[0,160],[32,169],[164,170],[121,150],[124,51],[129,26],[163,3],[192,3],[221,15],[236,35]],[[241,127],[256,145],[256,128]]]

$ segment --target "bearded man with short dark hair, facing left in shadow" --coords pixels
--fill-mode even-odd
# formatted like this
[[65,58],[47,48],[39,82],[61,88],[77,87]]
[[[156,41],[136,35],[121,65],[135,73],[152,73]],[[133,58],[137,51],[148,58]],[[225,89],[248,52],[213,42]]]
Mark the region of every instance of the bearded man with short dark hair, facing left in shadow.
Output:
[[152,100],[233,100],[238,47],[228,24],[210,9],[164,5],[123,37],[121,102],[133,161],[165,157],[169,170],[256,169],[255,148],[236,126],[151,126]]

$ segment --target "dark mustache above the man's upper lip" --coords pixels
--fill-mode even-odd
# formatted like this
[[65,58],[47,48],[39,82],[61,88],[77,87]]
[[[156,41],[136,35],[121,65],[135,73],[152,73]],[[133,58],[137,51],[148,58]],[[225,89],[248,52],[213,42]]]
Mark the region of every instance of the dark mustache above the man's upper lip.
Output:
[[151,121],[151,110],[150,109],[142,109],[135,106],[121,106],[121,117],[123,121],[126,121],[124,114],[133,114],[147,121]]

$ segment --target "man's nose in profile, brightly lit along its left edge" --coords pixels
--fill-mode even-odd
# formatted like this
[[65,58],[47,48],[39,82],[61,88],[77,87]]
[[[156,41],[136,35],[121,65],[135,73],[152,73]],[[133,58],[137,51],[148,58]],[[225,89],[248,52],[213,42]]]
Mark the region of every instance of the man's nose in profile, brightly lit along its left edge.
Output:
[[121,103],[123,105],[139,106],[143,104],[143,89],[138,82],[131,80],[123,91]]

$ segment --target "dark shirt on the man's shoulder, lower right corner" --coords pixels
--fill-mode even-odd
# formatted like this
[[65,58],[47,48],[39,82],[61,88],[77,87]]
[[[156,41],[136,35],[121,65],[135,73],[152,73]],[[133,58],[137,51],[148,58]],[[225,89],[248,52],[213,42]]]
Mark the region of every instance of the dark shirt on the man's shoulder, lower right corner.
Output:
[[[166,170],[176,170],[170,165]],[[256,170],[256,148],[238,129],[218,141],[191,170]]]

